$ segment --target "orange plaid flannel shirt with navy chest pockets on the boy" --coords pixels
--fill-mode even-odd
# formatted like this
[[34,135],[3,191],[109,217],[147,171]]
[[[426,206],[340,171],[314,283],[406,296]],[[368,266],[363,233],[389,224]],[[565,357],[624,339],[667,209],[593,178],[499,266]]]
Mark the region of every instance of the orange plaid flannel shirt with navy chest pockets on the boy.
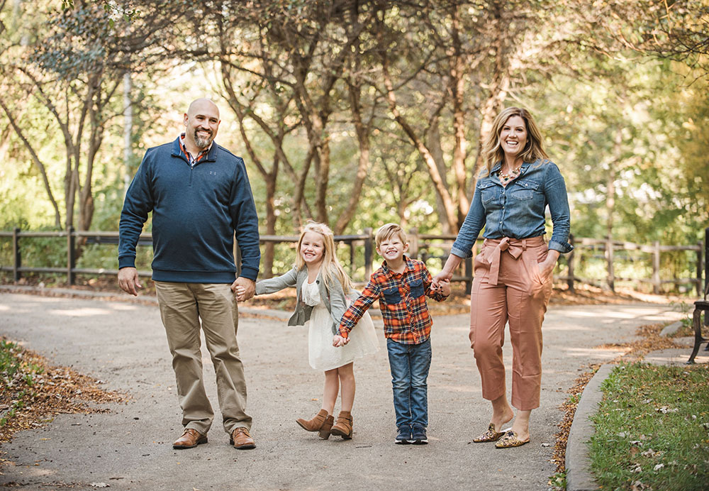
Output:
[[428,340],[432,320],[426,296],[437,302],[447,297],[431,290],[431,274],[424,263],[406,255],[404,260],[406,269],[403,273],[391,271],[386,267],[386,261],[372,273],[367,287],[342,316],[340,336],[347,338],[364,312],[375,300],[379,300],[379,310],[384,318],[384,337],[402,344],[420,344]]

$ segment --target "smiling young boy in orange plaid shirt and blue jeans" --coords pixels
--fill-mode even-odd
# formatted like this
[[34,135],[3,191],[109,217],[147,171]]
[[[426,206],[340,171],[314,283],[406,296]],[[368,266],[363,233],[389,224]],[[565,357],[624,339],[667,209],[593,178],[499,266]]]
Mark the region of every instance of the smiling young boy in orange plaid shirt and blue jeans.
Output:
[[333,346],[347,343],[348,333],[374,301],[379,300],[398,428],[395,443],[423,445],[428,443],[426,379],[431,366],[432,324],[425,295],[441,302],[450,294],[450,284],[446,282],[437,290],[431,289],[432,279],[426,265],[404,255],[408,243],[401,226],[382,226],[374,240],[376,252],[384,263],[372,273],[364,292],[345,311]]

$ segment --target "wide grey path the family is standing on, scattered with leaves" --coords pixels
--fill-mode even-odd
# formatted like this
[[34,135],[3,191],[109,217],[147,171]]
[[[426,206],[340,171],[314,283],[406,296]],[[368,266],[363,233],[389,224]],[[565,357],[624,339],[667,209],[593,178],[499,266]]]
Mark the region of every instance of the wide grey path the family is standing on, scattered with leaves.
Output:
[[[532,412],[532,442],[498,450],[493,444],[471,443],[486,429],[490,408],[480,395],[467,315],[435,317],[428,379],[430,444],[398,446],[393,444],[396,428],[381,329],[379,353],[355,363],[354,439],[320,441],[295,424],[296,418],[315,414],[322,397],[323,375],[308,366],[306,331],[245,314],[239,343],[257,448],[236,451],[228,445],[218,422],[211,361],[203,348],[217,422],[208,444],[174,451],[171,443],[182,427],[157,307],[0,293],[0,335],[132,397],[110,406],[107,414],[62,414],[43,428],[16,434],[0,446],[3,458],[12,462],[0,469],[0,487],[89,490],[104,483],[117,490],[547,490],[565,391],[590,363],[618,355],[596,346],[632,341],[637,326],[680,316],[656,304],[550,307],[544,325],[542,406]],[[375,319],[375,326],[381,328],[381,320]],[[505,351],[509,384],[509,341]]]

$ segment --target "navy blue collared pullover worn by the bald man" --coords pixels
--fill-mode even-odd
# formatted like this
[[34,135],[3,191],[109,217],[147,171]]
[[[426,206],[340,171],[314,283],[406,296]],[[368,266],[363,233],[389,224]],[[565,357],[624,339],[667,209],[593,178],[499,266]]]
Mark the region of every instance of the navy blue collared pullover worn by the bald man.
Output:
[[150,148],[125,196],[118,226],[118,267],[135,267],[135,245],[152,211],[152,279],[232,283],[233,238],[241,250],[241,276],[259,272],[259,228],[244,161],[213,143],[189,165],[173,143]]

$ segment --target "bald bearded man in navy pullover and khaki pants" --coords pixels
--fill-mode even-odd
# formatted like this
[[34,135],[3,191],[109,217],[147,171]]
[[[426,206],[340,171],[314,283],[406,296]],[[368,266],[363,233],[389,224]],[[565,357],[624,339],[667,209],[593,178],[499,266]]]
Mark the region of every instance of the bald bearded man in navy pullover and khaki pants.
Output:
[[[185,131],[150,148],[125,195],[118,243],[118,285],[142,288],[135,245],[152,211],[152,280],[172,353],[184,432],[173,448],[207,443],[214,412],[202,382],[200,327],[217,380],[223,426],[230,444],[255,448],[246,414],[246,382],[236,341],[236,287],[255,292],[259,229],[244,161],[214,142],[219,109],[197,99],[184,114]],[[240,274],[233,255],[236,236]]]

